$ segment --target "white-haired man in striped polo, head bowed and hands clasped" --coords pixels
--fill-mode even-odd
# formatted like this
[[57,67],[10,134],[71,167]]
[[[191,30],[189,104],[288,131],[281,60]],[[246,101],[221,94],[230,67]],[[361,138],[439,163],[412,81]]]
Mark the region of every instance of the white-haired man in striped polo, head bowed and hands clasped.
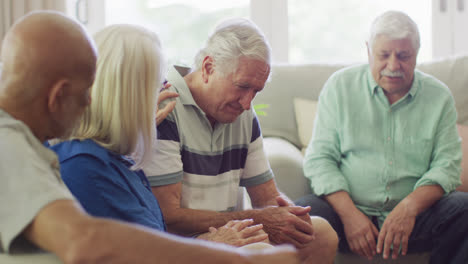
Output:
[[[169,90],[179,97],[158,126],[154,162],[144,168],[169,232],[203,238],[230,220],[263,224],[273,244],[299,248],[304,263],[332,263],[338,239],[330,224],[309,217],[276,187],[251,108],[270,75],[271,51],[252,22],[221,23],[195,58],[174,67]],[[253,210],[240,210],[245,186]]]

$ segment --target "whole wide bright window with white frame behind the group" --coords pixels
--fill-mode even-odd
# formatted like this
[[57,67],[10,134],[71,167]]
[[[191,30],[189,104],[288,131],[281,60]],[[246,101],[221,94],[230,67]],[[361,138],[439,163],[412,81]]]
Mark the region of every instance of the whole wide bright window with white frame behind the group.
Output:
[[[72,6],[76,2],[67,1],[73,2]],[[459,46],[468,50],[468,45],[454,43],[460,42],[460,36],[466,34],[453,37],[452,23],[456,20],[457,24],[466,24],[468,12],[455,11],[452,0],[78,2],[86,3],[89,15],[84,13],[91,32],[114,23],[139,24],[157,32],[171,64],[191,65],[209,32],[220,20],[229,17],[247,17],[257,23],[271,43],[276,63],[366,62],[365,42],[370,24],[377,15],[391,9],[406,12],[418,24],[421,34],[418,62],[431,60],[433,54],[441,57],[455,51],[459,53]],[[439,10],[443,3],[446,3],[445,13]],[[70,13],[74,14],[73,11]],[[461,29],[458,31],[462,33]],[[460,43],[468,43],[468,37],[463,39],[465,42]]]

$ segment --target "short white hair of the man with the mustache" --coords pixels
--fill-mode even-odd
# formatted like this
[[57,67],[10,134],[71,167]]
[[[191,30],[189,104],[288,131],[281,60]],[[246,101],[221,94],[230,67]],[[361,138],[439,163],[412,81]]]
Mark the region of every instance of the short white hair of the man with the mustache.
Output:
[[387,11],[374,20],[369,36],[371,49],[375,39],[381,35],[390,39],[409,38],[416,51],[421,46],[418,26],[407,14],[401,11]]

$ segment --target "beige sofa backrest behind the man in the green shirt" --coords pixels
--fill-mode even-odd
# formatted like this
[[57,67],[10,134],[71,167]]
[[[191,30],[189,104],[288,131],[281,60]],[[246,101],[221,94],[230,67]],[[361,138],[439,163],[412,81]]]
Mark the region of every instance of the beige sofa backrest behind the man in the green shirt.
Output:
[[[294,113],[294,98],[317,100],[325,81],[345,64],[274,65],[271,80],[254,104],[268,104],[259,116],[263,135],[284,138],[300,147]],[[468,125],[468,56],[422,63],[419,70],[444,82],[455,98],[458,123]],[[430,102],[428,102],[430,103]]]

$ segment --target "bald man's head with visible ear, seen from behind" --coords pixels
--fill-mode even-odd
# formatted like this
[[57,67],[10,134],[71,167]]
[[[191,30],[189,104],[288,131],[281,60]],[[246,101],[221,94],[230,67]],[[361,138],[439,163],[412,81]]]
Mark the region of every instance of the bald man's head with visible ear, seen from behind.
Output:
[[[67,126],[59,120],[66,118],[61,115],[70,111],[69,118],[76,119],[78,111],[62,104],[84,104],[81,101],[94,80],[96,59],[94,42],[79,23],[58,12],[30,13],[12,26],[3,41],[0,107],[10,113],[40,112],[46,121],[51,120],[50,126]],[[62,132],[47,133],[54,137]]]

